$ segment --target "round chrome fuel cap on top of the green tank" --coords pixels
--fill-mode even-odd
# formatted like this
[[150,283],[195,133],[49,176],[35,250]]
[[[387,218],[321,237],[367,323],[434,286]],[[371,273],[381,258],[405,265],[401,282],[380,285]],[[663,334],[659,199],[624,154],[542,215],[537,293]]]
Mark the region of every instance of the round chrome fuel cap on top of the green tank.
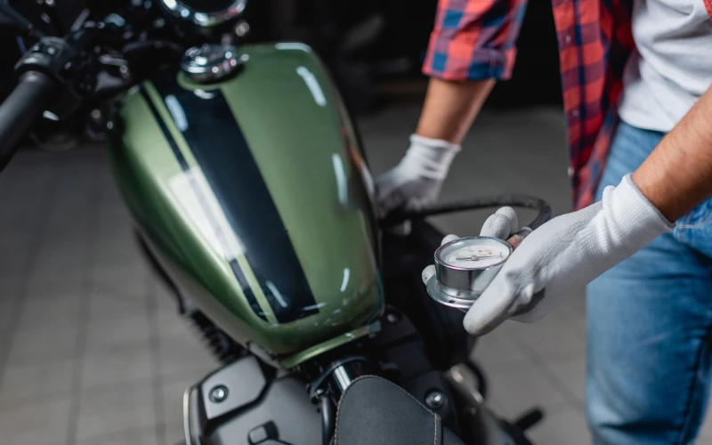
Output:
[[244,61],[231,44],[204,44],[183,53],[182,71],[199,84],[212,84],[234,76]]

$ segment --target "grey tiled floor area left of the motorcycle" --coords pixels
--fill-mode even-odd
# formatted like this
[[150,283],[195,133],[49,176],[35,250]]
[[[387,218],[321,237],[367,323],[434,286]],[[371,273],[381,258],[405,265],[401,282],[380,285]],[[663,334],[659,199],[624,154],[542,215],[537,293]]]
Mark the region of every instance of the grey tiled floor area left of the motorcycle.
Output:
[[106,153],[20,153],[0,176],[0,443],[182,440],[215,367],[150,275]]

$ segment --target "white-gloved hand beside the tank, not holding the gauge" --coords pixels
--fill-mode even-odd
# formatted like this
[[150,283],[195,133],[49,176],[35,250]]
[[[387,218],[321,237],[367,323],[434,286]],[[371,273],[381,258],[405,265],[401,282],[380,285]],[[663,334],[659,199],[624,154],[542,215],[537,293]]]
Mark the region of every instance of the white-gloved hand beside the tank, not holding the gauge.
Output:
[[433,203],[459,150],[457,144],[412,134],[401,162],[376,178],[379,216],[397,208],[414,209]]

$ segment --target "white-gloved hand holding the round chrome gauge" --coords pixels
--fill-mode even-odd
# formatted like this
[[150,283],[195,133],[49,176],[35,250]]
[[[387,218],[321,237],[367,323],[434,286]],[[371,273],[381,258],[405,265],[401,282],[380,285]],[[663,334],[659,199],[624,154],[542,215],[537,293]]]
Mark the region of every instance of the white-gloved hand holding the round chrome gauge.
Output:
[[601,202],[562,214],[531,232],[467,312],[465,329],[481,336],[509,318],[540,320],[571,290],[673,227],[628,174],[618,187],[603,190]]

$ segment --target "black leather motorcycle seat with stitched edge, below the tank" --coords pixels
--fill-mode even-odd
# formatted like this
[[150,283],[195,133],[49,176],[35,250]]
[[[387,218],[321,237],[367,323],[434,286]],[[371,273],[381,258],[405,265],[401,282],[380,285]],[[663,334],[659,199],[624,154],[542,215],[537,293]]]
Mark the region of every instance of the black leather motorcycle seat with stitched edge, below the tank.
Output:
[[396,384],[362,376],[346,389],[336,409],[334,445],[465,445]]

